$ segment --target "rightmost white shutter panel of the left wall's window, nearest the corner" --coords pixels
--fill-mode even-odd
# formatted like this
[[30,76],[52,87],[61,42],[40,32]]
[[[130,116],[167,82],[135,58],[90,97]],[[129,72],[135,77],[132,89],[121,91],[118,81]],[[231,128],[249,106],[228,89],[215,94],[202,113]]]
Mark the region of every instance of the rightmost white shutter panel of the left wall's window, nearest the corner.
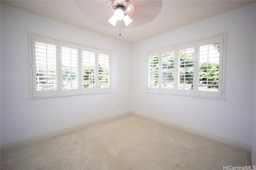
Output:
[[97,50],[98,53],[98,92],[110,91],[110,52]]

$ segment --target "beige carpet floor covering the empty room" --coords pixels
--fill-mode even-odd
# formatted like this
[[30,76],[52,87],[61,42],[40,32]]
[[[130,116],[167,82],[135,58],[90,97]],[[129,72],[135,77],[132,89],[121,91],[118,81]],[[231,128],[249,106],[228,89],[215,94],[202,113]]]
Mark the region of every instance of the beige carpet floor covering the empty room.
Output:
[[1,170],[223,170],[250,152],[135,115],[1,150]]

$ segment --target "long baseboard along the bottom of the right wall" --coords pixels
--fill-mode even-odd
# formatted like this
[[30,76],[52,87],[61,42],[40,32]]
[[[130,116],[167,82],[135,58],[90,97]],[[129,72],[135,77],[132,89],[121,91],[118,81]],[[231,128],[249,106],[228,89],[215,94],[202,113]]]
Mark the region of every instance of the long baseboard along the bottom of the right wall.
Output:
[[185,127],[185,126],[182,126],[182,125],[178,125],[178,124],[175,124],[175,123],[171,123],[171,122],[168,122],[168,121],[164,121],[164,120],[161,120],[161,119],[157,119],[157,118],[154,118],[154,117],[150,117],[150,116],[147,116],[147,115],[136,113],[136,112],[133,112],[133,111],[131,112],[131,114],[139,116],[139,117],[143,117],[143,118],[146,118],[146,119],[149,119],[149,120],[152,120],[152,121],[156,121],[158,123],[162,123],[162,124],[165,124],[165,125],[168,125],[168,126],[171,126],[171,127],[175,127],[177,129],[181,129],[183,131],[194,133],[196,135],[200,135],[202,137],[206,137],[206,138],[212,139],[214,141],[226,143],[226,144],[232,145],[234,147],[238,147],[238,148],[241,148],[241,149],[244,149],[244,150],[248,150],[250,152],[252,150],[252,147],[250,145],[246,145],[244,143],[239,143],[239,142],[236,142],[236,141],[232,141],[232,140],[226,139],[224,137],[219,137],[219,136],[216,136],[216,135],[212,135],[212,134],[209,134],[209,133],[206,133],[206,132],[198,131],[196,129],[191,129],[189,127]]

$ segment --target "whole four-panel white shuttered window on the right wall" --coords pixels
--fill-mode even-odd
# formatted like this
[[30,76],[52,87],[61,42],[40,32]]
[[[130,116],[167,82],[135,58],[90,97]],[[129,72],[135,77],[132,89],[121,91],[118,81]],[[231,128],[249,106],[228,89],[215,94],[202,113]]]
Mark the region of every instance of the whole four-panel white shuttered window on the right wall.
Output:
[[224,34],[148,51],[148,92],[223,98]]

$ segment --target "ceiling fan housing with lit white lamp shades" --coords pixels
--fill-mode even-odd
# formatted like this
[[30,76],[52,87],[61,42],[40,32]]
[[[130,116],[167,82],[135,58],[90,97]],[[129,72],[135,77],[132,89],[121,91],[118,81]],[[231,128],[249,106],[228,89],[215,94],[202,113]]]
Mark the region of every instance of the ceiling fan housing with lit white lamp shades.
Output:
[[125,25],[129,25],[133,20],[129,17],[134,12],[134,6],[129,0],[111,0],[110,2],[114,15],[108,20],[112,25],[116,26],[116,22],[124,20]]

